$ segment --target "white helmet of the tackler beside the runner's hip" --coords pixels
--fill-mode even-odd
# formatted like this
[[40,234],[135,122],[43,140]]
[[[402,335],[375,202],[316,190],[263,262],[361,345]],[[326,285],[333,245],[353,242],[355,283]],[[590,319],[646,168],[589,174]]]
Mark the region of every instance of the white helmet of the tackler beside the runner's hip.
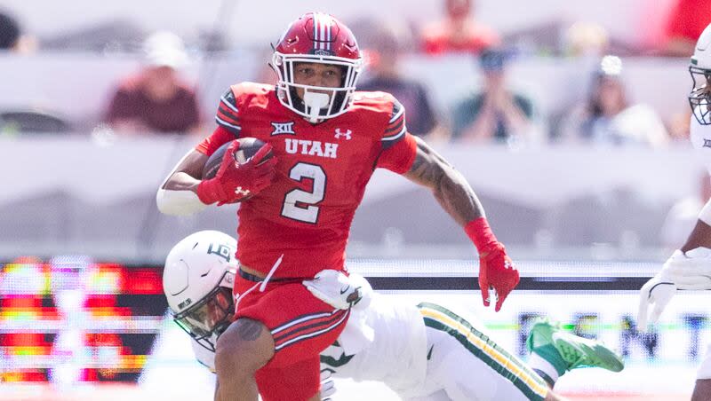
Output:
[[215,350],[235,314],[236,248],[229,235],[203,231],[180,240],[165,258],[163,289],[173,319],[207,350]]

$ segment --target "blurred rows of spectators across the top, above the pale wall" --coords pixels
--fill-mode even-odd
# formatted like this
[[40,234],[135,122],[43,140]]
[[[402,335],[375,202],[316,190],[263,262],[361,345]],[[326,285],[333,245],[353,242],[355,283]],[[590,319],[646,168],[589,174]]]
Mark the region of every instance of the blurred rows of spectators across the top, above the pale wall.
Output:
[[[321,5],[132,3],[4,2],[4,134],[100,126],[119,134],[205,134],[212,86],[274,82],[269,44],[294,16]],[[684,143],[683,64],[711,20],[707,0],[329,8],[365,51],[360,88],[400,98],[413,134],[509,145]],[[211,71],[216,61],[226,65]]]

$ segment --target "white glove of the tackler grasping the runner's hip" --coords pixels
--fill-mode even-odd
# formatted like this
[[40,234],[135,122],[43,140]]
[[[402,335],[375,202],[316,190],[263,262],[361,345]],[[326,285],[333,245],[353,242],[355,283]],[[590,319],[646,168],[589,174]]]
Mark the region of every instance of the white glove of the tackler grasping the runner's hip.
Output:
[[338,309],[350,309],[363,298],[361,283],[356,285],[356,281],[349,279],[341,271],[319,271],[314,279],[304,280],[302,284],[316,298]]

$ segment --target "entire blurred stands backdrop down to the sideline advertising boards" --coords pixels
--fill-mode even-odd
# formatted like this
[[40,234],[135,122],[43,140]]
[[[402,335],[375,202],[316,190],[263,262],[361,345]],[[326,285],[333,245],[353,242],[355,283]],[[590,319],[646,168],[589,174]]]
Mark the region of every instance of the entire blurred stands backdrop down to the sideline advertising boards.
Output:
[[[20,184],[0,202],[7,212],[0,253],[20,246],[107,255],[128,244],[120,255],[157,259],[178,233],[234,232],[221,210],[164,220],[154,187],[212,132],[230,84],[275,82],[270,43],[310,10],[353,29],[367,62],[359,88],[393,93],[411,133],[457,162],[503,240],[536,250],[526,255],[674,248],[707,199],[707,175],[691,161],[686,95],[688,60],[711,22],[711,0],[6,0],[0,153],[12,169],[26,154],[63,146],[52,172],[77,182],[60,185],[66,177],[38,179],[29,170],[14,177]],[[35,151],[36,144],[44,145]],[[119,152],[121,145],[128,147]],[[131,169],[138,177],[129,180]],[[127,180],[143,184],[129,189]],[[375,195],[356,216],[352,255],[403,256],[392,249],[404,246],[417,256],[407,246],[466,244],[430,209],[427,193],[379,191],[382,180],[374,181]],[[398,212],[403,204],[412,214],[425,210],[431,224],[414,226]],[[155,252],[135,251],[140,244]],[[445,249],[425,254],[469,253]]]

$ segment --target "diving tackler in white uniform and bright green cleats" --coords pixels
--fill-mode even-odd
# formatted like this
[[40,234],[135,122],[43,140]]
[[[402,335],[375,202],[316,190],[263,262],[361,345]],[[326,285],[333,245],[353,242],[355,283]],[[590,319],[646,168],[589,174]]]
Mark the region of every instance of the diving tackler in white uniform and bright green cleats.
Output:
[[[236,240],[222,232],[196,232],[165,261],[164,292],[173,318],[193,338],[196,358],[213,372],[217,338],[239,307],[232,283],[239,274]],[[547,322],[532,326],[524,364],[473,324],[434,303],[397,303],[368,282],[322,271],[304,285],[325,303],[350,309],[338,342],[321,353],[322,399],[332,377],[381,381],[403,399],[556,400],[550,388],[576,367],[623,368],[599,342],[565,333]]]

